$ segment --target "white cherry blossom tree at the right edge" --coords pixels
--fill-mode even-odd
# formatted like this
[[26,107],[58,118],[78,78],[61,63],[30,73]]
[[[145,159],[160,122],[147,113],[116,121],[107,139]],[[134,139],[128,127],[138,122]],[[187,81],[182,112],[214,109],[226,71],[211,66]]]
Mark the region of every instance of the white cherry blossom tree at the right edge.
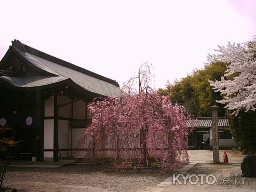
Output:
[[220,81],[209,81],[215,92],[223,99],[228,110],[238,114],[240,110],[256,110],[256,36],[254,40],[242,44],[219,46],[214,60],[227,63],[226,74]]

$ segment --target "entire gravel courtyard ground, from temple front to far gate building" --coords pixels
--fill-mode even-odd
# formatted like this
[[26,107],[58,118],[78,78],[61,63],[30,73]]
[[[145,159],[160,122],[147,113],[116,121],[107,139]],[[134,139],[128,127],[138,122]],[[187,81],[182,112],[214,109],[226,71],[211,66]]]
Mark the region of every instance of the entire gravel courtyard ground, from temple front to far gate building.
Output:
[[[189,151],[192,162],[196,164],[188,174],[214,174],[217,177],[230,177],[241,173],[241,152],[228,150],[230,164],[213,164],[212,152],[206,150]],[[220,151],[220,157],[223,151]],[[68,165],[60,168],[21,168],[8,167],[5,186],[18,188],[19,192],[247,192],[256,191],[256,179],[250,179],[241,187],[235,185],[172,185],[162,182],[171,173],[160,169],[136,170],[136,172],[116,172],[101,166]],[[168,180],[167,179],[167,180]],[[161,184],[160,184],[161,183]]]

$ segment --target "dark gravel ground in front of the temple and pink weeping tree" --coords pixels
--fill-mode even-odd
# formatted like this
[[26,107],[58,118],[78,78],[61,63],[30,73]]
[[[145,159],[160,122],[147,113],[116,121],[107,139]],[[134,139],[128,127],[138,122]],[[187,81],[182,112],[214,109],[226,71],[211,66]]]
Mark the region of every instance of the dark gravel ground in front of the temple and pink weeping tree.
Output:
[[159,184],[170,175],[159,169],[115,172],[101,166],[88,167],[77,164],[60,168],[8,167],[5,186],[18,188],[22,192],[128,192]]

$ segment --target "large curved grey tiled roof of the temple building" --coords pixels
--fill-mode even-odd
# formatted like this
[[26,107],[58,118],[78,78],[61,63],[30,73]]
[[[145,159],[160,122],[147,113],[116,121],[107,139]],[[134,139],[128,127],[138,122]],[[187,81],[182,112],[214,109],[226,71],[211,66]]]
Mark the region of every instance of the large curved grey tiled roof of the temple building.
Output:
[[30,88],[71,80],[80,88],[96,95],[116,97],[125,94],[116,81],[36,50],[18,40],[12,42],[10,49],[42,73],[41,76],[36,74],[30,77],[0,76],[0,80],[12,86]]

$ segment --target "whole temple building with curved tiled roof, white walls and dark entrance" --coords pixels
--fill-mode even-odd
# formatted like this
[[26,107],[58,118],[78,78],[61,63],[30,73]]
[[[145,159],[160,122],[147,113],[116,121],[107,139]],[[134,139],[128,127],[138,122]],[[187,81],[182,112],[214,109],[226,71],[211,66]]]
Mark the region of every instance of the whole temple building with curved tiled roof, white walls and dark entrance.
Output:
[[96,97],[122,96],[116,81],[22,44],[0,61],[0,126],[23,140],[20,154],[40,137],[41,161],[77,158],[80,136],[90,122],[86,106]]

